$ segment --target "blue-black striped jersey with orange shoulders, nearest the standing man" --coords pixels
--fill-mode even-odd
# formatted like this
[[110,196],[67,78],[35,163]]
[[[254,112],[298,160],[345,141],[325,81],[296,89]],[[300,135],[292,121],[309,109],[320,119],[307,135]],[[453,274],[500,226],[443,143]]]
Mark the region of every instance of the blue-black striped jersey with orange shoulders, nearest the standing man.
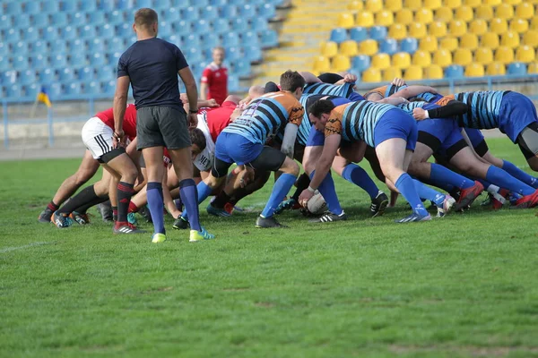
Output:
[[265,144],[265,141],[283,132],[286,124],[299,126],[304,112],[290,92],[267,93],[250,102],[245,111],[222,132],[239,134],[253,143]]

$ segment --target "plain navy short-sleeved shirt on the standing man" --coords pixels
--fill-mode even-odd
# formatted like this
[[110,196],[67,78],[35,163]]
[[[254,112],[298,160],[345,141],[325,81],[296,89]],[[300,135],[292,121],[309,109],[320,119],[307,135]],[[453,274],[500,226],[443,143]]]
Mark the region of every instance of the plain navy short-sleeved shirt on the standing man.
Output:
[[161,38],[148,38],[136,41],[119,57],[117,77],[131,79],[136,109],[166,106],[183,110],[178,71],[187,66],[176,45]]

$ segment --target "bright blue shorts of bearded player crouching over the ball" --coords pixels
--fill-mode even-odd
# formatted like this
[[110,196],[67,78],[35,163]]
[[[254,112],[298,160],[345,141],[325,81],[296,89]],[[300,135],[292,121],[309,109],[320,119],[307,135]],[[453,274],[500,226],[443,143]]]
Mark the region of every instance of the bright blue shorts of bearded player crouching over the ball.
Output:
[[377,147],[383,141],[402,138],[407,141],[405,149],[414,150],[418,135],[414,118],[403,110],[395,108],[379,118],[374,128],[374,144]]

